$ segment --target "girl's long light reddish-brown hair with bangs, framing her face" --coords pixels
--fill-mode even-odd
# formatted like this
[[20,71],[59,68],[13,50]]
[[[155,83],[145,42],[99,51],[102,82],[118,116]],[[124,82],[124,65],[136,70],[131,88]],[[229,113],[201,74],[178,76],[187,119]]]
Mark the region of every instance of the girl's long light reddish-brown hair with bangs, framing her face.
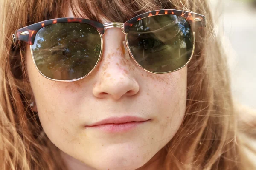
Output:
[[[256,136],[254,112],[233,102],[227,54],[217,34],[207,0],[1,0],[0,5],[0,169],[65,170],[60,151],[32,111],[32,89],[26,74],[25,46],[12,43],[24,26],[56,17],[86,16],[101,22],[126,20],[147,11],[178,9],[203,14],[207,27],[196,32],[195,52],[188,65],[187,104],[183,123],[163,147],[163,169],[252,170],[247,150]],[[111,9],[111,10],[110,10]],[[248,117],[248,116],[247,116]],[[253,153],[253,152],[252,152]],[[255,154],[255,150],[254,153]]]

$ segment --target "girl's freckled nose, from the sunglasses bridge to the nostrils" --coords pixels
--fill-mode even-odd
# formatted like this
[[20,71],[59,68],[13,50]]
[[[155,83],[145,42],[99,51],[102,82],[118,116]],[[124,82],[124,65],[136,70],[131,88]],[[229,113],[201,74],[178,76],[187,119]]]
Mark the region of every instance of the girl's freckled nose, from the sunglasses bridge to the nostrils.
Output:
[[122,42],[125,34],[120,28],[111,28],[103,35],[102,60],[99,62],[99,72],[93,95],[98,98],[121,99],[124,96],[134,96],[140,87],[134,77],[135,62],[125,58]]

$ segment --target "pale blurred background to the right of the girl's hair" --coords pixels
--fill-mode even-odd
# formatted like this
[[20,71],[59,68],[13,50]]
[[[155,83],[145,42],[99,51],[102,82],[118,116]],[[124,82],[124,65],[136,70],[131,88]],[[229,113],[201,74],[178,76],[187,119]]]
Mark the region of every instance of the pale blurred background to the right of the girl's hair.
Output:
[[256,0],[210,0],[229,55],[232,92],[256,109]]

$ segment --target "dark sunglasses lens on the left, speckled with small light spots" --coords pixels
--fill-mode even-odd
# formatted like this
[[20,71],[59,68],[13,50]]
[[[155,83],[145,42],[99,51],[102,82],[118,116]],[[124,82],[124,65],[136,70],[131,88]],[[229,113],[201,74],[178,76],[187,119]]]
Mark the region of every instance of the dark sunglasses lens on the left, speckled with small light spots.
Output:
[[35,64],[45,77],[79,79],[99,61],[101,35],[88,24],[56,23],[41,28],[31,48]]

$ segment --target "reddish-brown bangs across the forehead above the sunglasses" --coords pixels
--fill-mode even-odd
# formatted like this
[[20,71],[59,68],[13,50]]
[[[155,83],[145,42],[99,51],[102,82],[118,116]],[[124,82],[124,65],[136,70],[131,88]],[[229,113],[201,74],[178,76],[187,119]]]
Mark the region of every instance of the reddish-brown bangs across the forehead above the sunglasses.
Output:
[[27,14],[28,19],[26,25],[68,17],[69,9],[74,17],[87,18],[100,23],[103,18],[111,22],[125,22],[148,11],[177,9],[177,4],[173,4],[171,0],[30,0],[27,4],[25,6],[28,6],[29,12],[23,8],[25,10],[23,14]]

